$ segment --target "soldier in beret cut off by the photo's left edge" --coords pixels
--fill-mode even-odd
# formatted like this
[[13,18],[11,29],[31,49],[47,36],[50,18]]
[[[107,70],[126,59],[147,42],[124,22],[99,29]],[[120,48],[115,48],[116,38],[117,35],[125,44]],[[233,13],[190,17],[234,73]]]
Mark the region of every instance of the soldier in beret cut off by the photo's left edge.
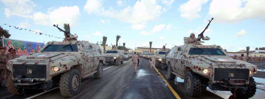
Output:
[[0,48],[0,87],[4,76],[5,76],[5,72],[6,72],[6,62],[7,62],[7,56],[6,56],[6,48],[2,47]]

